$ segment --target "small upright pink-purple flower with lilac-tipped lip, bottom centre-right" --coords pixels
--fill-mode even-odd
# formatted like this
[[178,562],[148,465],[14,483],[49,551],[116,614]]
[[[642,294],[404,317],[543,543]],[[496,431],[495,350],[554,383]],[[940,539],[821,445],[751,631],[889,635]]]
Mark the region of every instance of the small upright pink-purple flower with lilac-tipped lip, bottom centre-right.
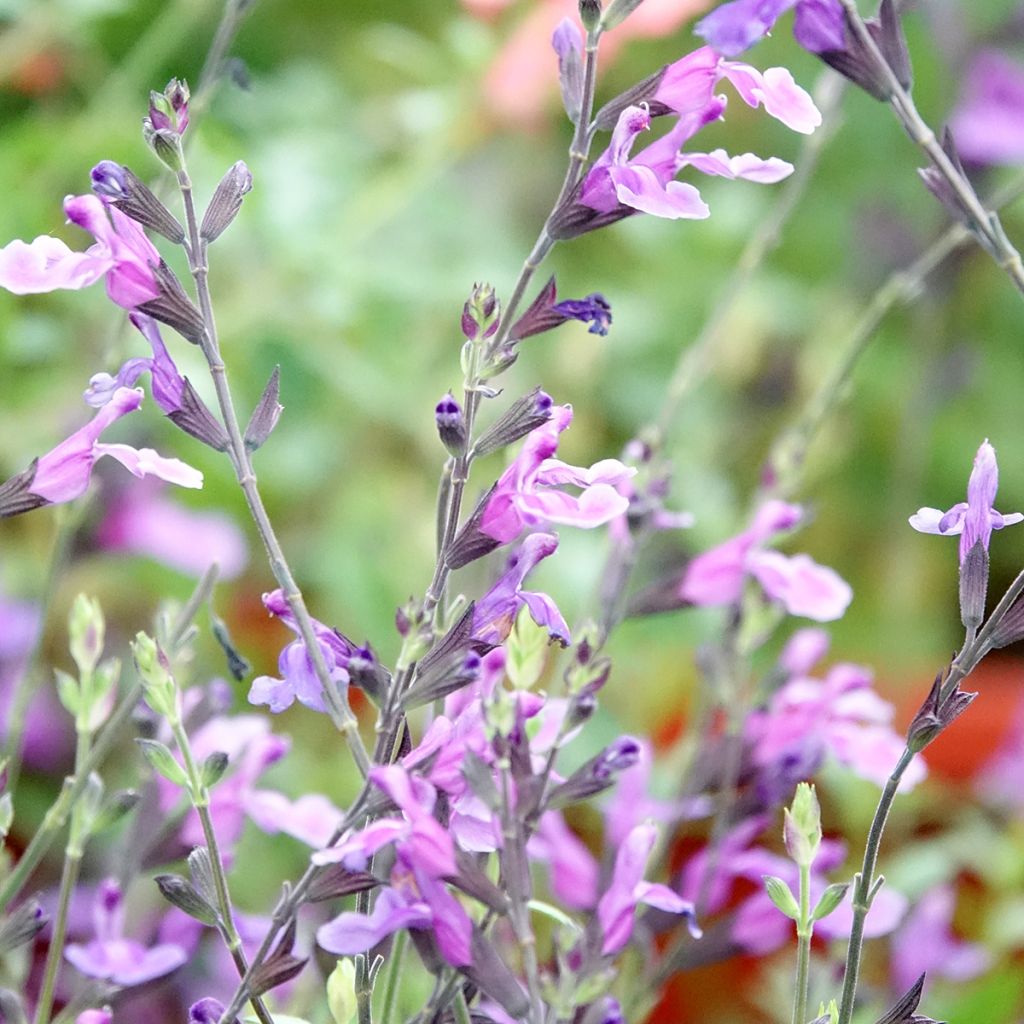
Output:
[[633,919],[639,903],[656,907],[668,913],[682,913],[694,938],[700,937],[693,904],[668,886],[644,881],[644,869],[654,843],[657,829],[652,824],[637,825],[626,837],[615,854],[615,866],[608,886],[597,904],[597,920],[603,940],[601,954],[611,956],[618,952],[633,934]]

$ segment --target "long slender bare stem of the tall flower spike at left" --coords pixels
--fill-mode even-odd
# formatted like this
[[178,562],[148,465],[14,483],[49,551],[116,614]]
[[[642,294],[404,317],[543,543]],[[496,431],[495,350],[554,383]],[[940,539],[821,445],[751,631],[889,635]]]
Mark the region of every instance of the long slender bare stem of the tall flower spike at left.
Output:
[[230,387],[227,383],[227,371],[220,356],[220,349],[217,344],[217,328],[213,317],[213,303],[210,297],[208,281],[206,243],[200,237],[196,218],[196,204],[193,199],[191,181],[183,166],[178,172],[177,179],[187,223],[188,266],[191,270],[193,280],[196,282],[196,294],[199,298],[200,311],[206,328],[202,344],[203,354],[206,356],[210,368],[213,386],[217,393],[217,402],[224,420],[224,427],[227,430],[228,452],[234,466],[239,485],[245,495],[246,504],[249,506],[250,514],[256,523],[256,528],[266,549],[270,570],[281,586],[285,600],[288,602],[288,606],[295,616],[302,642],[312,662],[316,678],[323,687],[324,697],[330,709],[331,718],[344,736],[346,743],[348,743],[349,751],[360,773],[366,777],[370,769],[370,756],[362,743],[362,737],[359,735],[358,721],[352,714],[347,695],[335,685],[334,680],[331,678],[331,672],[324,660],[324,653],[316,639],[312,618],[306,608],[302,592],[299,590],[298,584],[292,574],[291,567],[278,540],[278,535],[274,532],[256,483],[256,473],[253,470],[252,459],[246,447],[245,439],[242,436],[242,428],[239,425],[239,418],[234,411]]

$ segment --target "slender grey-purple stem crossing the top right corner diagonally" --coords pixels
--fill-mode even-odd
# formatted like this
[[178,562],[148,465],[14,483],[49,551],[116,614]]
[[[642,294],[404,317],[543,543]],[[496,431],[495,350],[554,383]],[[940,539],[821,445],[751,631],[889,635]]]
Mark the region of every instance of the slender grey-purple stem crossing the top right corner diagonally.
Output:
[[846,8],[848,24],[856,35],[858,43],[871,55],[885,79],[886,88],[889,91],[889,103],[896,117],[910,138],[925,152],[935,169],[945,178],[956,197],[957,203],[970,218],[973,231],[984,241],[985,248],[992,255],[992,258],[1007,272],[1018,290],[1024,292],[1024,263],[1021,262],[1021,254],[1007,238],[999,224],[998,216],[982,206],[971,182],[949,159],[935,137],[935,132],[918,113],[918,108],[910,94],[899,83],[871,34],[867,31],[867,26],[864,25],[864,19],[857,9],[856,0],[842,0],[842,3]]

